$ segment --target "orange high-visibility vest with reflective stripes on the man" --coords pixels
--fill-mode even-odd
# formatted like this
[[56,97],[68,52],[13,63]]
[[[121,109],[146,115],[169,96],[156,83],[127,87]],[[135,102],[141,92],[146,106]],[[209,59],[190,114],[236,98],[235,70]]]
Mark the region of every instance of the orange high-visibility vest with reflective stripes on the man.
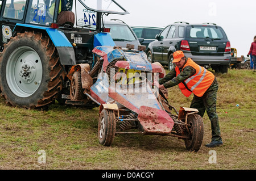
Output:
[[[210,85],[212,85],[212,82],[214,80],[214,75],[210,71],[205,69],[203,66],[197,65],[191,58],[188,58],[187,63],[183,66],[182,70],[186,66],[192,66],[192,68],[196,69],[196,73],[195,73],[195,75],[192,75],[188,79],[185,79],[184,82],[179,83],[181,92],[186,97],[191,95],[192,92],[196,96],[199,96],[199,97],[203,96],[204,92],[207,91],[207,89],[210,87]],[[179,75],[180,70],[179,70],[179,68],[177,68],[177,66],[176,66],[175,70],[176,70],[176,76]],[[190,89],[192,92],[189,91],[184,86],[183,83],[185,83],[187,85],[188,89]]]

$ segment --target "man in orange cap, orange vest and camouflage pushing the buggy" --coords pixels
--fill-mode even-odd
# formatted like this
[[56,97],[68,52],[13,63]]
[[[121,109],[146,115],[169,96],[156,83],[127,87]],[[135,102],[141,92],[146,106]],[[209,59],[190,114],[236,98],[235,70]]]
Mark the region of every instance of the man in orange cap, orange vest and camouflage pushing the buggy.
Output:
[[203,117],[207,111],[212,128],[212,142],[205,146],[212,148],[223,144],[216,113],[216,100],[218,82],[216,77],[202,66],[197,65],[191,58],[184,56],[181,50],[173,54],[174,68],[154,85],[162,88],[169,88],[179,85],[185,96],[194,94],[191,108],[196,108],[198,114]]

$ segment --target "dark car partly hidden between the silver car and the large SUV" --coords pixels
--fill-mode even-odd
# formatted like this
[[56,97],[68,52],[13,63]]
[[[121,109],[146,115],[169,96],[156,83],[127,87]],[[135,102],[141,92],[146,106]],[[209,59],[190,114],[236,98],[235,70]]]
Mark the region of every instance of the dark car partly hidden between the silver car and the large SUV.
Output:
[[159,35],[159,33],[163,30],[163,28],[158,27],[131,27],[131,29],[133,29],[138,38],[144,39],[141,45],[146,46],[146,49],[148,44],[155,40],[155,36]]

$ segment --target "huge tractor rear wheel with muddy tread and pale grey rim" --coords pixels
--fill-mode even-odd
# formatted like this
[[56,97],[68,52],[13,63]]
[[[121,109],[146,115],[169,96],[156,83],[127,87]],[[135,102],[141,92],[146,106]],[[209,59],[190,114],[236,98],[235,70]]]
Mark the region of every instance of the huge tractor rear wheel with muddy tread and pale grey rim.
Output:
[[1,96],[11,106],[48,106],[55,102],[64,77],[55,46],[42,33],[18,33],[0,54]]

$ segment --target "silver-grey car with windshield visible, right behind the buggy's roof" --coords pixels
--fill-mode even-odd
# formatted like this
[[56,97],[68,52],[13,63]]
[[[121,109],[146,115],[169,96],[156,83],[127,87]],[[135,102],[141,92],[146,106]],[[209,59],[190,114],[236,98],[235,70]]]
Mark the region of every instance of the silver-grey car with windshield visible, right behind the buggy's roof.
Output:
[[142,38],[138,39],[133,30],[122,20],[112,19],[110,22],[105,22],[104,27],[110,28],[110,36],[119,47],[126,48],[127,44],[133,44],[134,49],[137,49],[144,41]]

